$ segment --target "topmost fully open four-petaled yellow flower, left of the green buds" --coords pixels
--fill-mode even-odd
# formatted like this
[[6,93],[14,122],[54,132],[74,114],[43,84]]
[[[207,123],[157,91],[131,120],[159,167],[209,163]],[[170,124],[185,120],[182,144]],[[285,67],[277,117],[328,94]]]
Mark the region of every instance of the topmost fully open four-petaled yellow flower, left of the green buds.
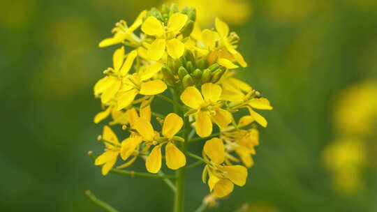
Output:
[[172,58],[181,57],[184,54],[184,43],[179,38],[179,31],[184,27],[187,20],[187,15],[173,13],[169,17],[168,26],[163,26],[163,23],[156,17],[147,17],[147,20],[142,23],[141,29],[148,36],[156,38],[149,45],[147,57],[153,61],[158,61],[165,53],[165,49]]

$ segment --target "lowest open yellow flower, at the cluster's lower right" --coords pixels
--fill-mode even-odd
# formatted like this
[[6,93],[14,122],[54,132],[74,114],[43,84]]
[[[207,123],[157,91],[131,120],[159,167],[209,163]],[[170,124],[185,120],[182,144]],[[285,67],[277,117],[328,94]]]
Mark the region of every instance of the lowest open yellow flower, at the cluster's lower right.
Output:
[[209,190],[216,197],[229,195],[233,191],[233,184],[244,186],[247,178],[245,167],[242,165],[222,165],[225,159],[225,147],[221,139],[215,137],[208,140],[203,151],[209,158],[204,171],[208,172]]

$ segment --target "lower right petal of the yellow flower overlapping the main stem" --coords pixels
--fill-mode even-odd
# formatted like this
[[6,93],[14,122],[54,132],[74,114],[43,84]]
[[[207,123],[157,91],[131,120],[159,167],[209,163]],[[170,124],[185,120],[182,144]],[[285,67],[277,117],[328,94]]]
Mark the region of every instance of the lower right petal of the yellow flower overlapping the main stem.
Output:
[[177,146],[172,144],[172,142],[169,142],[165,146],[165,160],[169,169],[173,170],[186,165],[186,157],[184,156],[184,153],[182,153]]

